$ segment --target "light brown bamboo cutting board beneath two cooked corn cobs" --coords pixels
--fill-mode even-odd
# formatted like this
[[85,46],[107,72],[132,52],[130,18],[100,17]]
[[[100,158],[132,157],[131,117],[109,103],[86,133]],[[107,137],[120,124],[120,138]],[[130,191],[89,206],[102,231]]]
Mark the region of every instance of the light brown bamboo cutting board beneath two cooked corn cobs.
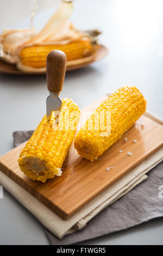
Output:
[[[82,111],[92,112],[105,99]],[[78,156],[73,145],[63,165],[63,175],[45,184],[30,180],[18,167],[17,159],[25,143],[0,157],[0,169],[25,190],[66,220],[98,194],[128,173],[163,145],[163,126],[143,115],[140,120],[96,161]],[[128,141],[124,141],[124,138]],[[134,139],[137,143],[133,143]],[[119,153],[119,150],[123,150]],[[128,156],[127,152],[133,153]],[[115,167],[106,170],[107,167]]]

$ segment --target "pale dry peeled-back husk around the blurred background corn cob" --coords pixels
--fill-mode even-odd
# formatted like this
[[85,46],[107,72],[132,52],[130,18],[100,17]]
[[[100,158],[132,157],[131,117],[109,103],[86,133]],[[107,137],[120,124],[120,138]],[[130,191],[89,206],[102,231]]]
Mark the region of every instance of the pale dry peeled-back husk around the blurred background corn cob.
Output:
[[[3,48],[3,56],[0,58],[16,64],[18,69],[34,72],[35,69],[32,67],[21,64],[20,52],[23,48],[35,45],[66,45],[84,38],[90,38],[91,41],[93,38],[91,33],[78,31],[70,22],[72,11],[72,1],[62,1],[39,33],[35,31],[33,25],[30,29],[4,29],[0,35],[0,45]],[[34,13],[33,11],[32,21]],[[37,71],[39,70],[37,69]]]

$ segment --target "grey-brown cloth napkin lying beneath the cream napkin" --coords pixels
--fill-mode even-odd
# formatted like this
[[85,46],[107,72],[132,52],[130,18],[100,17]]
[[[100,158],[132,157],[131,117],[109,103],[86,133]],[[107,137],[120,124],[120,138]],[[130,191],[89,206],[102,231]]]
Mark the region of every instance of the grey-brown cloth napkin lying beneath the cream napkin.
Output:
[[[33,131],[14,132],[14,147],[27,141],[32,133]],[[163,192],[161,185],[163,185],[163,162],[148,173],[147,180],[92,218],[82,230],[66,235],[62,240],[46,228],[45,233],[51,245],[71,245],[127,229],[156,217],[162,217]]]

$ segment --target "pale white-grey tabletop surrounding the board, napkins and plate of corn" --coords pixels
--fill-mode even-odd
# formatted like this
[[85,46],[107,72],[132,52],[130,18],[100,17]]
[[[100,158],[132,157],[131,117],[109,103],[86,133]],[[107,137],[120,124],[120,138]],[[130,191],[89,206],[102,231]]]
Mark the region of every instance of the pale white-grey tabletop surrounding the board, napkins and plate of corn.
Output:
[[[14,8],[23,10],[25,17],[30,10],[28,4],[32,6],[34,1],[24,1],[24,7],[18,5],[20,0],[15,1],[16,7],[12,7],[11,2],[0,4],[4,10],[0,17],[1,29],[9,26],[9,21],[18,21]],[[76,27],[101,29],[101,42],[110,53],[87,68],[67,72],[61,97],[71,97],[82,108],[124,84],[134,84],[145,95],[148,110],[163,118],[163,1],[78,0],[74,5],[72,21]],[[48,20],[54,9],[36,15],[36,28]],[[20,16],[23,17],[22,13]],[[29,19],[17,23],[17,27],[28,25]],[[35,129],[45,114],[47,94],[45,76],[0,74],[0,155],[12,149],[13,131]],[[163,244],[162,233],[163,219],[160,218],[81,244]],[[49,244],[42,225],[4,191],[4,198],[0,199],[0,245],[30,244]]]

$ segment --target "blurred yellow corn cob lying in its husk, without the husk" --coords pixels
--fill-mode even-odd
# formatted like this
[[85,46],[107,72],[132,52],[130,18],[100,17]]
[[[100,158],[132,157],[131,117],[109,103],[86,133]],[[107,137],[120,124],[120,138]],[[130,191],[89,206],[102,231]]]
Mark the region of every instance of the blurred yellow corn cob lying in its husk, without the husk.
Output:
[[45,68],[46,58],[49,52],[60,50],[65,52],[67,61],[89,57],[95,46],[89,39],[78,40],[67,45],[35,45],[25,47],[20,52],[21,63],[32,68]]

